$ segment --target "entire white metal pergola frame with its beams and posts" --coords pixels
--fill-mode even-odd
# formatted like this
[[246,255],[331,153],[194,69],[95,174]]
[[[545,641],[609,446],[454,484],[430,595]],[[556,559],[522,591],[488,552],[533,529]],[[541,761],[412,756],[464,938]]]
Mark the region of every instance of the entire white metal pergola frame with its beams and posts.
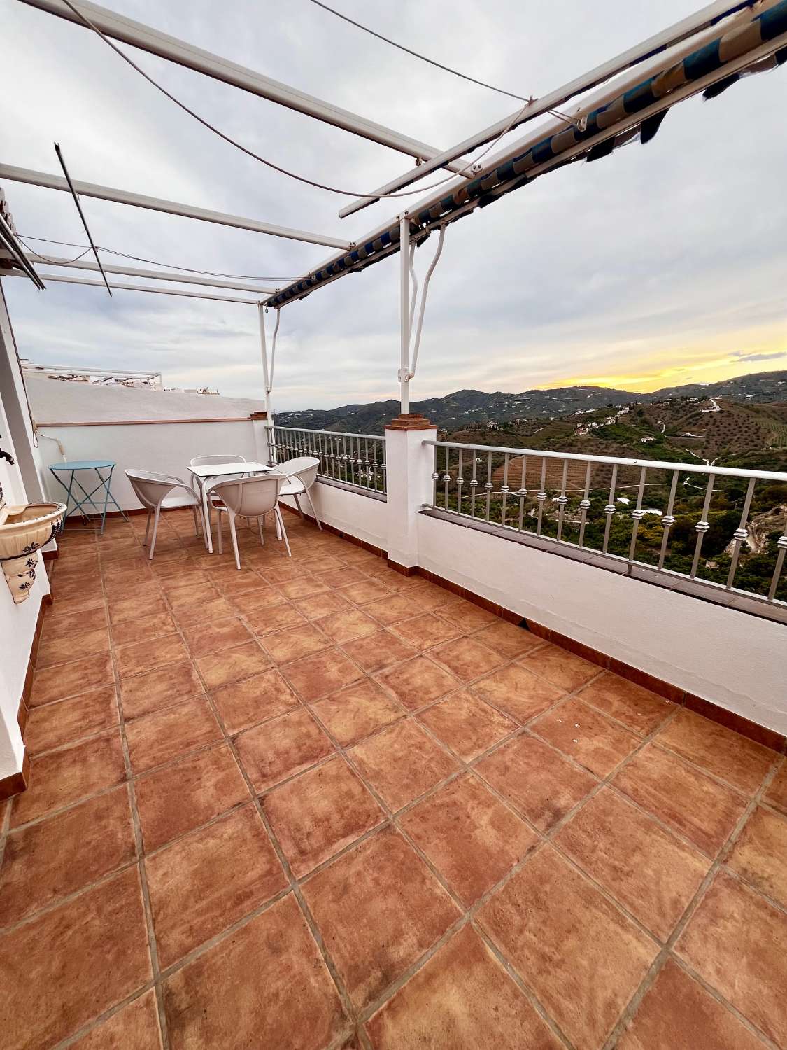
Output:
[[[89,28],[81,22],[75,14],[63,3],[63,0],[20,0],[29,6],[40,10],[57,15],[68,21]],[[209,292],[182,291],[177,289],[156,288],[142,285],[112,284],[112,289],[132,290],[140,292],[150,292],[158,295],[178,295],[193,298],[213,299],[225,302],[236,302],[243,306],[256,306],[260,334],[260,353],[262,359],[262,373],[264,379],[264,400],[269,423],[273,425],[273,413],[271,405],[271,393],[273,390],[273,368],[276,345],[276,334],[278,332],[279,311],[281,306],[285,306],[296,299],[304,298],[311,294],[312,286],[322,287],[333,280],[338,279],[345,273],[353,270],[363,269],[369,249],[373,249],[376,242],[387,237],[382,248],[375,248],[375,257],[371,261],[387,257],[400,252],[400,361],[399,361],[399,383],[400,403],[402,414],[409,412],[409,382],[414,374],[416,357],[418,344],[420,342],[421,327],[423,323],[423,312],[425,306],[425,293],[428,289],[429,278],[442,250],[445,227],[448,223],[454,222],[462,215],[467,214],[478,206],[478,200],[468,201],[466,205],[454,210],[447,218],[441,218],[439,209],[433,222],[419,226],[412,230],[412,216],[437,208],[437,206],[459,188],[467,185],[468,163],[458,163],[459,159],[469,151],[478,148],[501,136],[502,132],[512,130],[514,127],[532,121],[536,117],[544,116],[556,106],[565,105],[571,99],[582,94],[581,102],[575,107],[573,112],[567,114],[568,120],[553,118],[546,124],[541,124],[535,131],[526,134],[511,145],[508,145],[486,158],[483,163],[473,166],[472,178],[484,178],[488,173],[497,171],[503,165],[508,164],[515,158],[522,156],[527,150],[543,142],[547,136],[559,135],[569,131],[577,124],[581,127],[581,121],[587,120],[589,113],[605,106],[617,99],[622,92],[631,90],[642,84],[647,78],[655,77],[664,69],[669,68],[676,62],[693,55],[698,49],[711,45],[722,34],[727,34],[730,29],[738,30],[746,35],[756,18],[761,17],[771,8],[781,7],[787,0],[715,0],[701,10],[698,10],[688,18],[682,19],[663,32],[648,38],[637,46],[623,51],[611,61],[597,66],[588,74],[569,82],[555,91],[550,92],[543,99],[526,105],[523,109],[506,120],[498,121],[488,128],[471,135],[469,139],[455,144],[447,150],[440,151],[435,147],[420,143],[417,140],[402,135],[399,132],[385,128],[382,125],[367,121],[364,118],[350,113],[347,110],[339,109],[336,106],[325,103],[319,99],[306,96],[295,88],[288,87],[276,81],[263,77],[254,70],[229,62],[219,56],[212,55],[191,44],[177,40],[174,37],[162,34],[149,26],[130,19],[123,18],[112,12],[106,10],[97,4],[89,3],[88,0],[77,0],[78,9],[97,25],[107,37],[131,44],[150,54],[168,59],[178,65],[221,80],[225,83],[250,91],[261,98],[288,106],[291,109],[306,113],[316,120],[324,121],[336,127],[343,128],[354,134],[388,146],[400,152],[408,153],[411,156],[424,161],[420,167],[398,176],[378,190],[371,191],[369,197],[360,198],[342,208],[340,216],[352,214],[368,204],[380,200],[380,194],[395,192],[404,186],[424,177],[430,172],[440,168],[459,172],[458,177],[445,186],[441,186],[437,192],[423,197],[417,204],[408,206],[396,216],[396,219],[376,227],[356,244],[338,237],[329,237],[321,234],[310,233],[302,230],[292,230],[285,227],[274,226],[253,218],[243,218],[237,215],[230,215],[217,211],[210,211],[204,208],[196,208],[190,205],[177,204],[172,201],[159,200],[152,196],[133,193],[125,190],[112,189],[110,187],[98,186],[91,183],[73,183],[73,187],[79,195],[98,197],[105,201],[113,201],[133,207],[147,208],[154,211],[169,214],[182,215],[203,222],[215,223],[220,226],[235,227],[252,230],[271,236],[286,237],[290,239],[302,240],[310,244],[322,244],[338,250],[338,254],[331,255],[320,266],[306,271],[300,278],[288,286],[286,295],[282,296],[281,289],[268,289],[254,285],[222,281],[208,277],[195,277],[192,275],[183,276],[173,273],[163,273],[155,270],[143,270],[132,267],[105,266],[107,273],[116,273],[140,278],[153,278],[155,280],[176,281],[187,285],[205,285],[214,289],[233,289],[236,291],[251,291],[258,294],[257,298],[231,298],[221,294]],[[720,24],[722,28],[720,29]],[[743,39],[743,38],[742,38]],[[621,112],[616,114],[614,121],[610,121],[603,130],[593,136],[583,139],[570,149],[560,152],[559,155],[536,164],[528,170],[528,181],[553,170],[554,168],[573,160],[575,156],[586,154],[594,145],[614,139],[635,129],[643,120],[658,116],[671,108],[677,102],[690,98],[704,90],[706,87],[718,83],[721,80],[731,77],[753,63],[771,58],[777,51],[787,47],[787,32],[782,33],[767,42],[757,42],[752,39],[749,46],[746,46],[735,60],[728,61],[720,69],[715,69],[704,77],[692,80],[690,82],[672,90],[668,97],[653,103],[650,106],[639,109],[635,113]],[[588,94],[587,92],[592,92]],[[30,171],[24,168],[13,167],[0,164],[0,178],[23,182],[35,186],[42,186],[49,189],[68,190],[68,185],[64,178],[38,171]],[[511,186],[504,186],[497,192],[505,192],[507,188],[518,185],[516,180],[511,181]],[[377,194],[377,195],[376,195]],[[419,322],[414,340],[414,353],[410,360],[410,346],[412,341],[413,319],[416,317],[416,299],[418,291],[418,280],[413,269],[414,249],[431,232],[432,229],[440,230],[440,246],[438,252],[429,266],[420,309],[418,311]],[[407,244],[407,250],[404,245]],[[350,252],[354,256],[352,265],[344,266],[343,260]],[[22,258],[20,258],[20,255]],[[5,253],[5,257],[12,258],[17,265],[23,266],[25,272],[12,271],[15,276],[30,276],[29,270],[33,267],[34,257],[22,252],[20,246],[10,246]],[[69,262],[66,259],[52,257],[46,264],[54,267],[67,267],[72,269],[98,271],[99,266],[94,262],[76,261]],[[329,275],[325,275],[331,271]],[[3,272],[3,275],[7,273]],[[318,278],[318,275],[319,278]],[[92,280],[85,277],[62,276],[62,275],[38,275],[44,276],[46,280],[62,281],[65,284],[89,285],[105,287],[103,281]],[[292,291],[298,286],[297,291]],[[305,287],[304,287],[305,286]],[[265,336],[265,308],[269,302],[273,302],[277,297],[284,298],[274,306],[277,312],[276,332],[272,344],[272,352],[269,359],[268,342]]]

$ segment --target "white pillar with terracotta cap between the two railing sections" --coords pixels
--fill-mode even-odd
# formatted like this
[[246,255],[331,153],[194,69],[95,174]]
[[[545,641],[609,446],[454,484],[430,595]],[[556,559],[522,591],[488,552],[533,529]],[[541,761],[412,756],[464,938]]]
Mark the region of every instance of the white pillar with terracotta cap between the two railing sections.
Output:
[[418,565],[418,514],[430,502],[435,441],[433,423],[420,415],[399,416],[385,427],[388,560],[403,568]]

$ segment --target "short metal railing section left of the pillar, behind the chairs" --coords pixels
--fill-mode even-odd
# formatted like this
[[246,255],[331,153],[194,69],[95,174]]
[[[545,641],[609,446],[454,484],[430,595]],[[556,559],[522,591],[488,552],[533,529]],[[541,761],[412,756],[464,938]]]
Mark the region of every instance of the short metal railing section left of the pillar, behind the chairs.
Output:
[[279,462],[296,456],[315,456],[320,461],[319,477],[385,492],[385,438],[297,426],[269,427],[268,433],[269,448],[271,433],[274,435],[275,458]]

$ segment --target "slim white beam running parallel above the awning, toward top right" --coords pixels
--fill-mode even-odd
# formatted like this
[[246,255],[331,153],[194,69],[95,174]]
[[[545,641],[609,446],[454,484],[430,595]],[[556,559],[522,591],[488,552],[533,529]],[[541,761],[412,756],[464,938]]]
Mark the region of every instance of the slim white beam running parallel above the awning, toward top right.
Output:
[[[465,139],[463,142],[458,143],[455,146],[451,146],[449,149],[444,150],[437,156],[430,158],[417,168],[411,168],[399,175],[397,178],[392,178],[384,186],[380,186],[376,190],[371,190],[369,196],[359,197],[357,201],[350,202],[339,210],[339,217],[346,218],[347,215],[352,215],[355,212],[361,211],[363,208],[367,208],[369,205],[375,204],[380,200],[382,194],[395,193],[397,190],[401,190],[405,186],[409,186],[412,183],[418,182],[420,178],[423,178],[425,175],[430,174],[439,168],[448,167],[449,163],[456,160],[456,158],[470,153],[472,150],[478,149],[481,146],[485,146],[489,142],[493,142],[498,135],[504,132],[508,133],[508,131],[513,131],[514,128],[526,124],[528,121],[535,120],[537,117],[543,117],[551,109],[565,105],[570,99],[575,98],[577,94],[598,87],[604,81],[610,80],[610,78],[616,77],[618,74],[632,68],[632,66],[639,64],[645,59],[652,58],[654,55],[663,52],[681,42],[688,42],[687,46],[683,48],[683,54],[685,54],[686,50],[693,50],[696,46],[695,38],[698,33],[717,25],[721,19],[727,18],[742,9],[750,7],[753,3],[754,0],[735,0],[735,2],[732,2],[732,0],[715,0],[714,3],[708,4],[701,10],[695,12],[694,15],[689,15],[687,18],[681,19],[680,22],[676,22],[674,25],[671,25],[669,28],[662,29],[661,33],[657,33],[655,36],[650,37],[647,40],[637,44],[635,47],[630,47],[628,50],[622,51],[609,62],[604,62],[601,65],[596,66],[595,69],[591,69],[581,77],[577,77],[576,79],[569,81],[568,84],[563,84],[554,91],[550,91],[549,94],[545,94],[543,98],[536,99],[533,104],[528,106],[526,109],[519,109],[516,112],[511,113],[509,117],[504,118],[502,121],[496,121],[494,124],[490,124],[490,126],[488,128],[484,128],[483,131],[478,131],[475,134],[470,135],[469,139]],[[673,57],[679,57],[679,52],[676,51]]]

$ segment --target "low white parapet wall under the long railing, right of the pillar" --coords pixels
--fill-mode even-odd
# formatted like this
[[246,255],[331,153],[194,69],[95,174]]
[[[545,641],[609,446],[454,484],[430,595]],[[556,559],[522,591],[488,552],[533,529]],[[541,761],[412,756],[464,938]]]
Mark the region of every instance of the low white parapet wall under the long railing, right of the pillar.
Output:
[[787,733],[787,628],[419,514],[419,564],[523,617]]

